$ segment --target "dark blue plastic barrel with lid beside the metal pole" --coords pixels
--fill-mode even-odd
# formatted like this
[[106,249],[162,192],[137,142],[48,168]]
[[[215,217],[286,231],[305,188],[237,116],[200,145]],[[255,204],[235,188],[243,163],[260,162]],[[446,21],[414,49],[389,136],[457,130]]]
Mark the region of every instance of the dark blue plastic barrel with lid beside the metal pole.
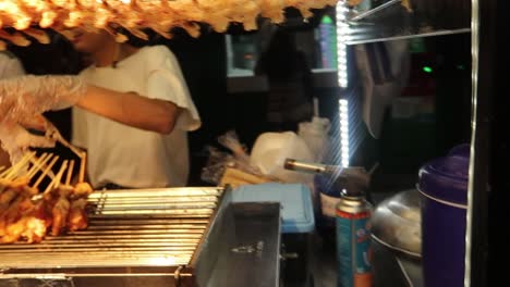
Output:
[[469,147],[463,145],[420,171],[426,287],[464,286],[469,162]]

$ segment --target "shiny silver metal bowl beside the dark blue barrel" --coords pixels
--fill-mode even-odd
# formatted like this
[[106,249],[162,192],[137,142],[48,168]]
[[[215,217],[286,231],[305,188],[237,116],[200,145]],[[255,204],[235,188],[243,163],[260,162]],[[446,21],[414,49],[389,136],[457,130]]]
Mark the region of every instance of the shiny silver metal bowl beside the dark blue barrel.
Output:
[[422,257],[421,196],[405,190],[380,202],[372,217],[375,240],[414,258]]

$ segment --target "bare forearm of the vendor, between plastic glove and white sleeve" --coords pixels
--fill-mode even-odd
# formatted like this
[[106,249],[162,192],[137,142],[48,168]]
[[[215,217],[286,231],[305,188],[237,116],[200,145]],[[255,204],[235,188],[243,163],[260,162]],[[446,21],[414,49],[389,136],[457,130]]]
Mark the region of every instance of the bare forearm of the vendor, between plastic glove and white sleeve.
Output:
[[77,107],[133,127],[169,134],[173,130],[179,109],[175,104],[89,86]]

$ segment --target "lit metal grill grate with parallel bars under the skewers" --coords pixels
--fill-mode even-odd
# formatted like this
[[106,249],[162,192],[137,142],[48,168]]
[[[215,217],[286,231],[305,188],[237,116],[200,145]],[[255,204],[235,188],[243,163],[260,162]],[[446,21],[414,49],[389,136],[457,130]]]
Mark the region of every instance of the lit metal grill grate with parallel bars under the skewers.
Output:
[[222,190],[169,188],[95,191],[86,230],[40,244],[0,245],[0,269],[187,265]]

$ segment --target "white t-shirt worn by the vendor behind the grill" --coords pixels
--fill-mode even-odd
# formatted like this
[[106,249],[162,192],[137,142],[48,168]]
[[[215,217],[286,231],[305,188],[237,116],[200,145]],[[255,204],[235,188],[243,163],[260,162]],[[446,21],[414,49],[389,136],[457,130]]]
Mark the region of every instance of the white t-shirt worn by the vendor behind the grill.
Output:
[[173,102],[183,109],[170,135],[131,127],[73,109],[74,145],[88,151],[94,187],[116,184],[132,188],[186,185],[190,160],[187,132],[201,126],[179,63],[165,46],[142,48],[117,67],[88,67],[88,84],[121,92]]

